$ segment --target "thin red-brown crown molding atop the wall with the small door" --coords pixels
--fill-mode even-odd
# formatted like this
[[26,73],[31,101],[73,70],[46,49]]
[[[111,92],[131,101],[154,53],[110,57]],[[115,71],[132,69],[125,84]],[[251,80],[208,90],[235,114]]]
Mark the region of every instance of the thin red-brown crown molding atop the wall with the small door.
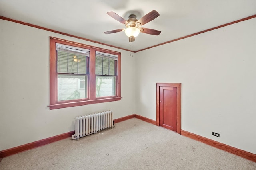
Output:
[[229,22],[229,23],[226,23],[226,24],[223,24],[223,25],[220,25],[220,26],[217,26],[217,27],[213,27],[213,28],[210,28],[210,29],[206,29],[204,31],[200,31],[200,32],[197,32],[197,33],[193,33],[193,34],[190,34],[190,35],[186,35],[184,37],[180,37],[180,38],[177,38],[177,39],[173,39],[173,40],[170,40],[170,41],[166,41],[164,43],[160,43],[160,44],[157,44],[157,45],[153,45],[151,47],[147,47],[147,48],[144,48],[144,49],[140,49],[140,50],[137,50],[135,51],[134,53],[137,53],[139,51],[143,51],[143,50],[146,50],[146,49],[150,49],[150,48],[153,48],[153,47],[157,47],[157,46],[160,46],[160,45],[164,45],[164,44],[168,44],[168,43],[172,43],[174,41],[178,41],[178,40],[181,40],[181,39],[185,39],[185,38],[188,38],[188,37],[192,37],[194,35],[198,35],[198,34],[201,34],[201,33],[205,33],[205,32],[208,32],[208,31],[212,31],[214,29],[218,29],[218,28],[221,28],[221,27],[226,27],[228,25],[232,25],[234,23],[238,23],[238,22],[241,22],[241,21],[245,21],[245,20],[249,20],[249,19],[252,19],[252,18],[255,18],[256,17],[256,14],[255,15],[252,15],[252,16],[248,16],[246,18],[242,18],[240,20],[236,20],[236,21],[233,21],[233,22]]

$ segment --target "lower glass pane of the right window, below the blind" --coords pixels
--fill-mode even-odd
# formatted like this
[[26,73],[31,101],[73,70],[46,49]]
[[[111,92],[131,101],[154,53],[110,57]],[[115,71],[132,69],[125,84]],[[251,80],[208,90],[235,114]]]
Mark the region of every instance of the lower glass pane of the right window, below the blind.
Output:
[[115,76],[96,76],[96,97],[116,96]]

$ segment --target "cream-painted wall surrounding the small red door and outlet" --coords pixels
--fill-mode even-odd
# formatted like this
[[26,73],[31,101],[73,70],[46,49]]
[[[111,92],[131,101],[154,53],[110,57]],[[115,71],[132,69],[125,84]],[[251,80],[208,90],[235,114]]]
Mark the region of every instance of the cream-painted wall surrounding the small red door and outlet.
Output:
[[156,83],[182,83],[183,130],[256,154],[255,30],[253,18],[136,53],[136,113],[156,120]]

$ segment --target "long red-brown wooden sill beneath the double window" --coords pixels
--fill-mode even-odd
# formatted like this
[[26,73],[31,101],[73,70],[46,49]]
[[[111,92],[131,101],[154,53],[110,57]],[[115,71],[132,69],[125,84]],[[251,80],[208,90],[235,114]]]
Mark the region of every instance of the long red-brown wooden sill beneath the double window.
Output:
[[82,106],[87,104],[96,104],[96,103],[104,103],[104,102],[113,102],[121,100],[122,97],[116,97],[116,98],[104,98],[104,99],[96,99],[96,100],[86,100],[81,102],[69,102],[69,103],[62,103],[62,104],[52,104],[48,105],[50,110],[52,109],[61,109],[66,107],[74,107],[74,106]]

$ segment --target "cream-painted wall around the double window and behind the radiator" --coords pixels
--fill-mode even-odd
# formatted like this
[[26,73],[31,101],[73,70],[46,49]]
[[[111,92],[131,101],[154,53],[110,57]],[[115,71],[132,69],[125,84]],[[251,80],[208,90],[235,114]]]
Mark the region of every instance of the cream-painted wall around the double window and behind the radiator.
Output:
[[[0,29],[0,150],[73,131],[77,115],[111,109],[117,119],[135,113],[130,52],[5,20]],[[122,99],[50,110],[49,36],[121,52]]]

